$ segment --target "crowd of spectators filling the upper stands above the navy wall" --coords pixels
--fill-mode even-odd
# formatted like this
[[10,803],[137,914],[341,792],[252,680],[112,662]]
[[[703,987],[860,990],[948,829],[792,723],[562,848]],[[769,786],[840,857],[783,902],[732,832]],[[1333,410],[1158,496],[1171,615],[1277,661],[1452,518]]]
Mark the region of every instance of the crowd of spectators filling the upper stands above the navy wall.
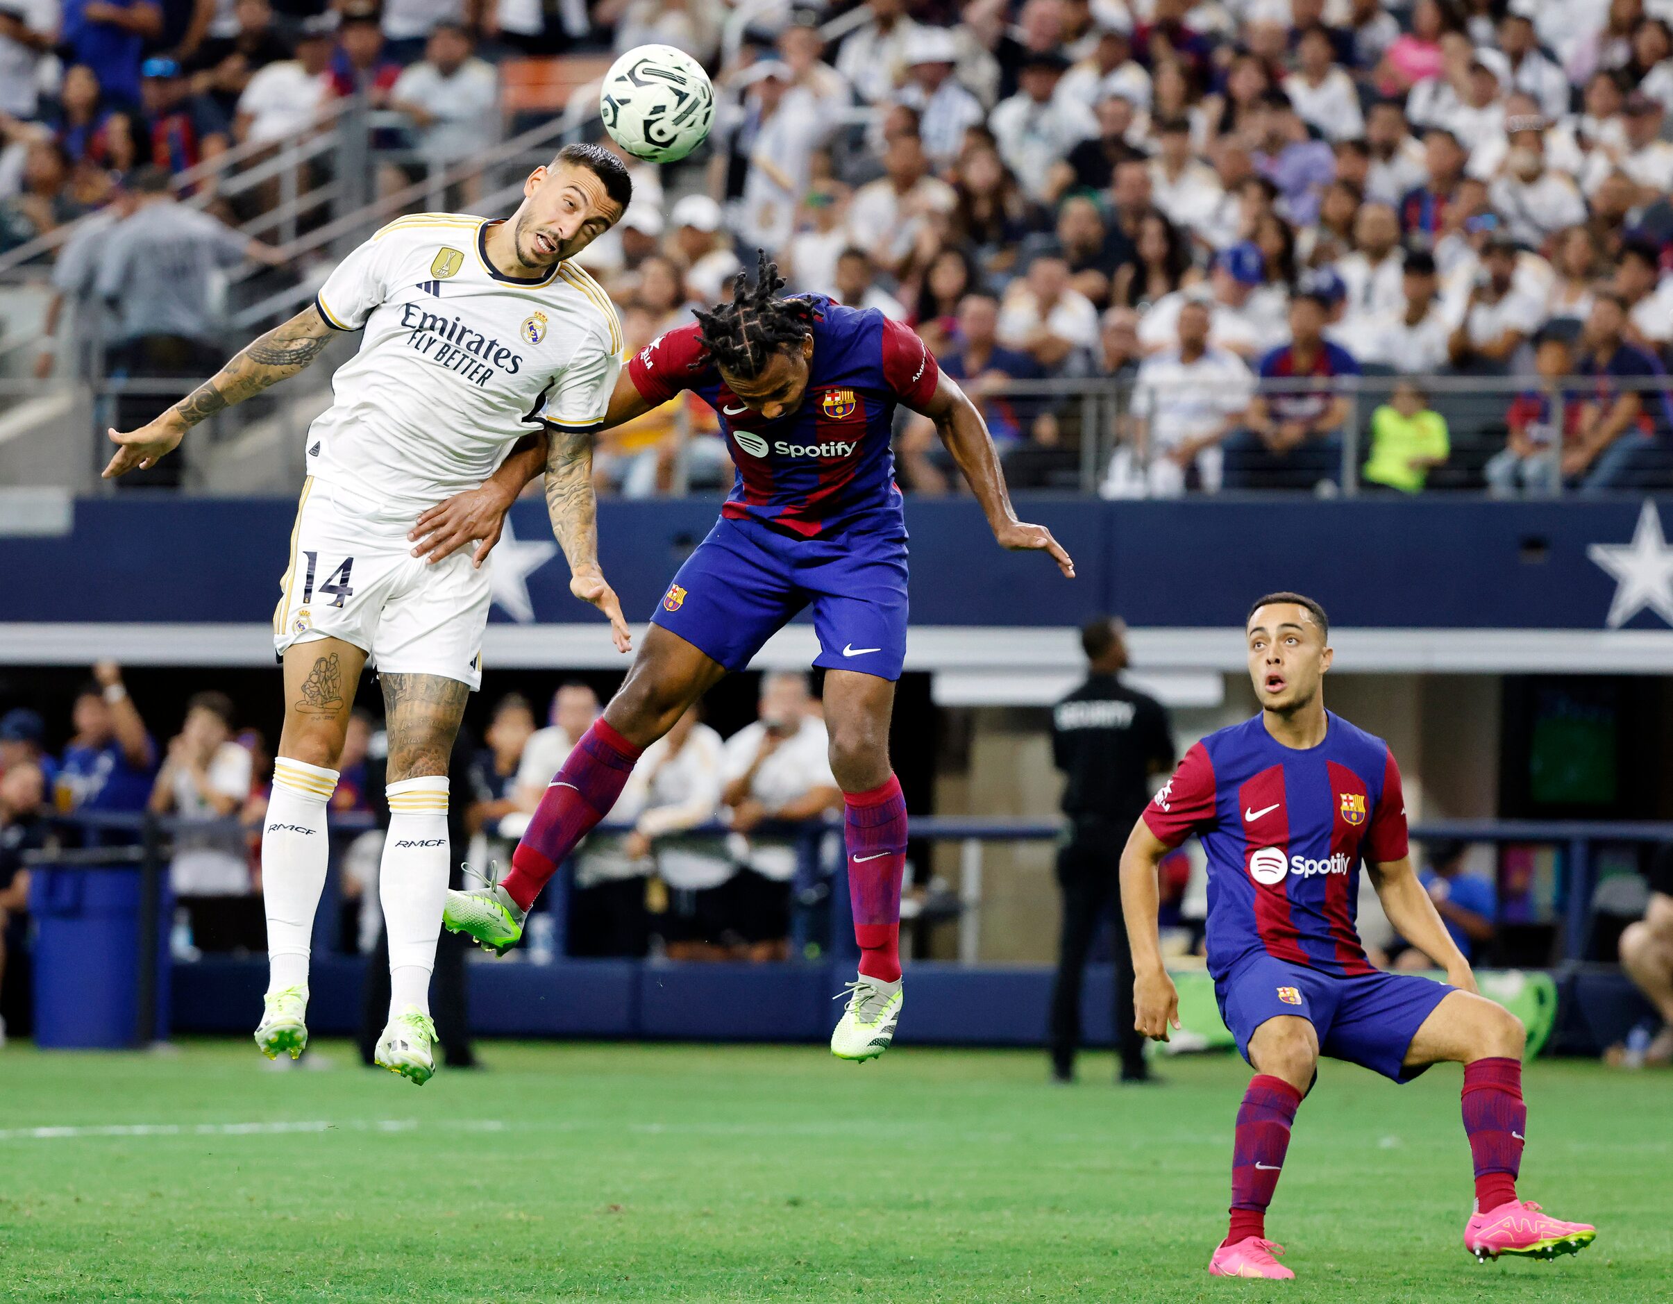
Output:
[[[495,62],[666,42],[721,110],[706,172],[634,164],[582,258],[634,348],[760,246],[923,333],[1024,487],[1086,417],[1005,387],[1064,378],[1131,393],[1109,495],[1328,490],[1348,427],[1389,490],[1673,465],[1668,0],[870,0],[835,44],[838,7],[761,8],[734,54],[721,0],[323,5],[0,0],[0,249],[356,90],[460,159],[500,129]],[[1350,380],[1437,373],[1482,393]],[[917,492],[957,479],[925,422],[898,452]],[[698,408],[612,432],[599,479],[676,465],[729,479]]]

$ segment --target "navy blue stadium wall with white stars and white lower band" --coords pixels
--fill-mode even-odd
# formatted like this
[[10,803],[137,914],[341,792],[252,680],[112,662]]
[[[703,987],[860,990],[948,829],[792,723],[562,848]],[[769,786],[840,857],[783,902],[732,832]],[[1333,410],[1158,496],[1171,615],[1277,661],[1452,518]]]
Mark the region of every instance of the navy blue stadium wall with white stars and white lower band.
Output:
[[[1118,611],[1149,636],[1141,661],[1230,670],[1250,599],[1293,588],[1357,633],[1362,670],[1673,670],[1673,499],[1027,497],[1019,511],[1051,526],[1079,579],[999,551],[969,501],[908,507],[908,665],[1026,660],[1039,634]],[[293,516],[274,499],[132,494],[0,519],[0,660],[256,665],[271,656]],[[602,562],[631,619],[649,616],[713,521],[713,501],[601,506]],[[614,663],[602,623],[569,596],[544,506],[520,502],[512,526],[487,665]],[[1338,666],[1353,665],[1338,643]]]

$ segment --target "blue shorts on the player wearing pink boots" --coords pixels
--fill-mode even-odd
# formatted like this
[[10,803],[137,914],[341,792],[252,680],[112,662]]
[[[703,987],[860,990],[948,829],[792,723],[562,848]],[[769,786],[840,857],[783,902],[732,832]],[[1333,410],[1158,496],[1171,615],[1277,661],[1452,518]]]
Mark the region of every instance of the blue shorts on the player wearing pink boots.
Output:
[[1266,1019],[1303,1018],[1318,1033],[1318,1050],[1395,1081],[1410,1081],[1425,1066],[1402,1061],[1430,1011],[1457,991],[1417,974],[1332,978],[1271,956],[1255,954],[1215,983],[1220,1016],[1250,1058],[1250,1038]]

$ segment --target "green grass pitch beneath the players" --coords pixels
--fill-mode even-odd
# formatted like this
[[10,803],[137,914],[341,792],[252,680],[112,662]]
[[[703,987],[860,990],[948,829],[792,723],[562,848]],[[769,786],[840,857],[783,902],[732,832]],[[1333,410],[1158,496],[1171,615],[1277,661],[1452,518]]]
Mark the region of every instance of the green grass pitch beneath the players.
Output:
[[1108,1056],[1056,1088],[1004,1051],[489,1045],[413,1088],[321,1050],[331,1071],[0,1051],[0,1299],[1673,1299],[1668,1075],[1531,1068],[1522,1192],[1598,1242],[1477,1265],[1457,1070],[1327,1066],[1268,1224],[1300,1274],[1278,1286],[1205,1271],[1230,1058],[1116,1090]]

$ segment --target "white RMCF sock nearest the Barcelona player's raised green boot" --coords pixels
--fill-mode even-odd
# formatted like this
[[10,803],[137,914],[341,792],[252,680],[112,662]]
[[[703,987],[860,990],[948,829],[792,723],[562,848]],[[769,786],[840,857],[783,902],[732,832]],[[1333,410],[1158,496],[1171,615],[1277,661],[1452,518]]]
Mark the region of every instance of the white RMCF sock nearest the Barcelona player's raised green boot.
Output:
[[418,1006],[430,1013],[430,971],[442,936],[447,875],[447,775],[390,783],[390,832],[383,839],[378,899],[390,937],[390,1018]]

